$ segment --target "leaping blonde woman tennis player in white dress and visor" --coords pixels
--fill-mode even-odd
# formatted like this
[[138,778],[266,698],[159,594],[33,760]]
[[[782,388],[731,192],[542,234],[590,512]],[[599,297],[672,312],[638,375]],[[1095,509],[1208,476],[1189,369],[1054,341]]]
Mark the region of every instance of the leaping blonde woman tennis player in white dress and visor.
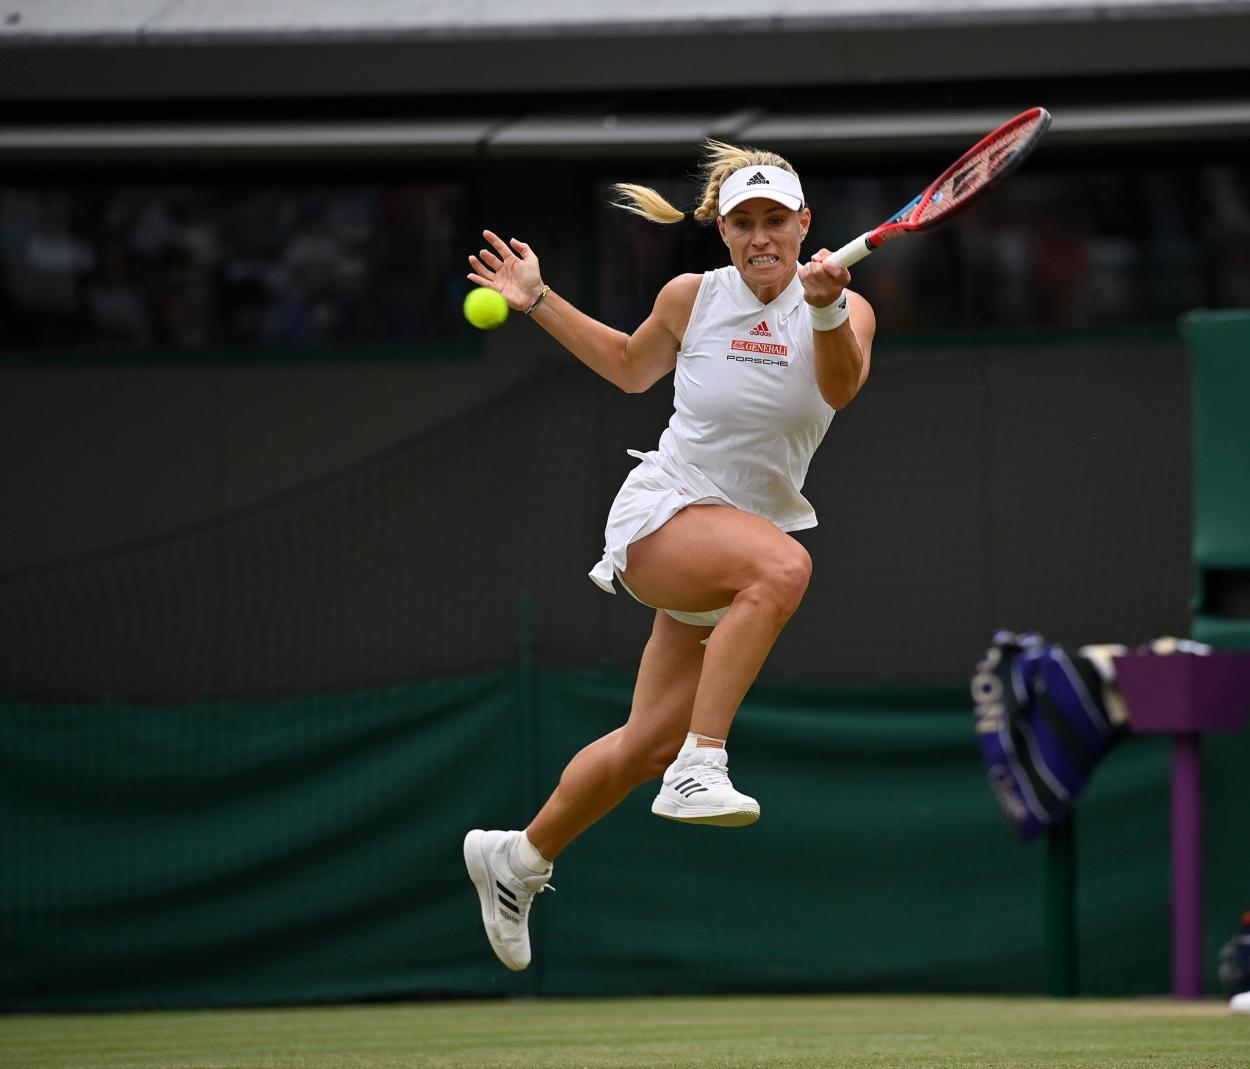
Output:
[[[811,575],[788,533],[814,526],[800,493],[838,409],[868,379],[876,321],[828,249],[806,263],[811,225],[794,168],[780,156],[709,141],[694,218],[715,220],[729,265],[679,275],[622,334],[544,284],[534,249],[484,231],[469,279],[626,393],[676,370],[674,413],[625,479],[590,578],[656,609],[626,723],[578,753],[522,831],[472,830],[469,875],[482,923],[509,969],[530,963],[528,918],[552,861],[635,786],[661,778],[658,816],[738,826],[760,806],[729,779],[725,740]],[[654,223],[684,214],[645,186],[619,206]]]

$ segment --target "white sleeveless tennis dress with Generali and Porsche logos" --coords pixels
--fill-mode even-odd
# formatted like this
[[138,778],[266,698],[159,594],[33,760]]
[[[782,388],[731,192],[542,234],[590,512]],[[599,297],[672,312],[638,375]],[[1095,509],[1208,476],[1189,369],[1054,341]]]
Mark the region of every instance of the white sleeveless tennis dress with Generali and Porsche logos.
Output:
[[[678,353],[672,393],[674,413],[659,448],[628,450],[641,464],[612,501],[604,556],[590,571],[609,594],[625,570],[630,543],[688,505],[731,505],[784,531],[816,525],[800,491],[834,409],[816,386],[811,318],[798,275],[776,300],[761,304],[736,268],[706,271]],[[725,609],[666,611],[711,625]]]

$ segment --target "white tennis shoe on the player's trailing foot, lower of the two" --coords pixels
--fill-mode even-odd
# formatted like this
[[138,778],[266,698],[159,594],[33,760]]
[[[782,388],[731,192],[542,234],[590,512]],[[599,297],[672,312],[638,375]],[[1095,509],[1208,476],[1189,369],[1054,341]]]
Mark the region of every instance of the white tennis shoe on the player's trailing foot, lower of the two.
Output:
[[535,873],[516,855],[520,831],[481,831],[465,835],[465,868],[481,900],[481,923],[490,946],[509,969],[530,964],[530,904],[534,895],[555,890],[550,870]]

